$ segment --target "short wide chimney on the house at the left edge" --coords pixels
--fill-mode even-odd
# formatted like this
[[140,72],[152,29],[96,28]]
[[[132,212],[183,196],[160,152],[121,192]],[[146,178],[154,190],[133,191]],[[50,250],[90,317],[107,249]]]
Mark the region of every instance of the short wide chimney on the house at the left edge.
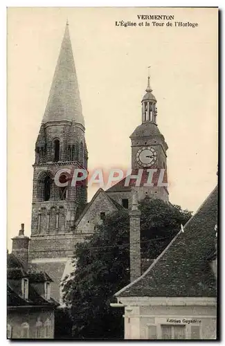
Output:
[[24,224],[21,224],[19,235],[12,238],[12,254],[21,262],[24,269],[28,268],[28,248],[30,238],[24,235]]

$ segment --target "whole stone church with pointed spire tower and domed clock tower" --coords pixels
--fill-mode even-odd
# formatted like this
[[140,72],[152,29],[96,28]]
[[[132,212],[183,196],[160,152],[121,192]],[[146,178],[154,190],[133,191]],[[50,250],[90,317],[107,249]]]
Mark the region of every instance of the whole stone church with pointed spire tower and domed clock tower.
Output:
[[[51,295],[60,300],[60,282],[73,270],[71,257],[75,244],[93,234],[105,215],[130,209],[132,194],[138,199],[149,195],[168,201],[165,186],[136,187],[135,173],[147,168],[166,170],[168,145],[157,126],[156,98],[152,94],[150,77],[141,100],[140,125],[131,134],[132,176],[108,190],[100,188],[87,203],[87,181],[66,187],[55,185],[54,176],[59,170],[88,170],[88,150],[85,141],[85,124],[66,23],[64,37],[57,60],[46,109],[35,143],[33,164],[33,201],[31,236],[22,253],[28,253],[28,267],[45,272],[51,277]],[[145,174],[144,181],[145,181]],[[65,181],[66,175],[60,176]],[[12,242],[13,243],[13,242]],[[14,251],[12,244],[12,253]],[[27,255],[27,254],[26,254]]]

